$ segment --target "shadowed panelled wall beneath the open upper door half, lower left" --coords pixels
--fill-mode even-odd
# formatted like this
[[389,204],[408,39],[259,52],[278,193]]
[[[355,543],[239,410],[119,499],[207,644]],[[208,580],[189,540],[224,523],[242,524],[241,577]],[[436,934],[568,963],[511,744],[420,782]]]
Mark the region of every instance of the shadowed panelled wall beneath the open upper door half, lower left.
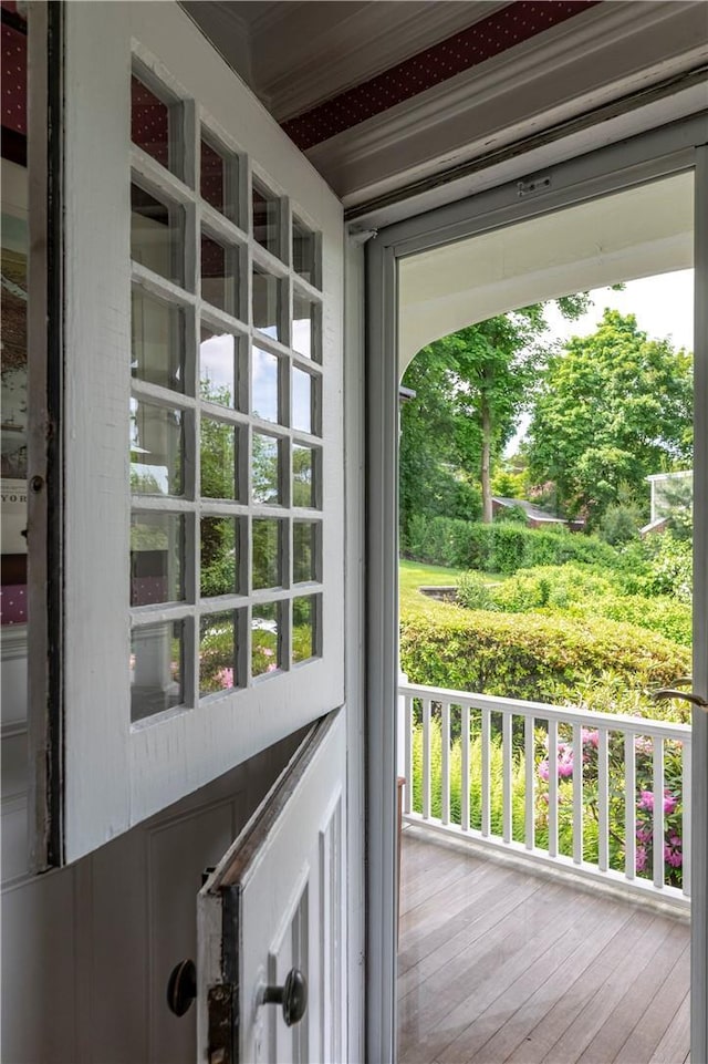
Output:
[[[197,958],[202,872],[248,822],[300,737],[66,868],[32,876],[27,860],[19,869],[3,861],[2,1061],[194,1064],[196,1009],[174,1016],[167,980],[179,961]],[[3,796],[3,846],[4,804]],[[21,828],[18,841],[27,839],[27,809]]]

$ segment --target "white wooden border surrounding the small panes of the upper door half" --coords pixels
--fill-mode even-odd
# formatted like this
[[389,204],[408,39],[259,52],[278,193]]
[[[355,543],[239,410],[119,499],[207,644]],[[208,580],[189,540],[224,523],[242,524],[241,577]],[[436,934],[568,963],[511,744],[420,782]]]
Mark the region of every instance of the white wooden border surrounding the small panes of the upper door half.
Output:
[[[343,701],[343,229],[337,200],[176,4],[67,6],[65,16],[64,808],[73,860]],[[137,726],[127,665],[128,193],[139,154],[129,145],[132,49],[322,231],[325,380],[321,659]]]

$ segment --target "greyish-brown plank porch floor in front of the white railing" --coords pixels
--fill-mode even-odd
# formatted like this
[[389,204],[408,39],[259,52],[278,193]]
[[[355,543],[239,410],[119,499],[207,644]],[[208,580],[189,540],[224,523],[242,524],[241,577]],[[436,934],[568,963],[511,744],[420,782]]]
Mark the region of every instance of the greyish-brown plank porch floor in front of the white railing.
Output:
[[399,1064],[684,1064],[685,920],[406,828]]

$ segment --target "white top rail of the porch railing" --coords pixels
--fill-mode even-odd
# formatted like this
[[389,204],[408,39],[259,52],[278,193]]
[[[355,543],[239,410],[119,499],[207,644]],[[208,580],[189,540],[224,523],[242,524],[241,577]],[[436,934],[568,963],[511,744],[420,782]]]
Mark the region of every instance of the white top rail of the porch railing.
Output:
[[398,693],[409,698],[430,699],[434,702],[469,705],[477,710],[511,712],[518,716],[534,716],[542,721],[572,721],[575,724],[584,724],[586,727],[603,727],[610,731],[629,732],[634,735],[656,735],[690,743],[690,724],[650,721],[642,716],[627,716],[624,713],[594,713],[592,710],[549,705],[546,702],[527,702],[521,699],[502,699],[492,694],[475,694],[448,688],[430,688],[421,683],[402,683],[398,685]]

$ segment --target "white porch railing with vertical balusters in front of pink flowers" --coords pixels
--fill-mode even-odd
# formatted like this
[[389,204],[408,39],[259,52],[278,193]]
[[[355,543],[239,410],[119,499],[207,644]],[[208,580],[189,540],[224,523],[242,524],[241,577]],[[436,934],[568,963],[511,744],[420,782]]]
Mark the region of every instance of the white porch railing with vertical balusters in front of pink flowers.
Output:
[[[487,845],[506,849],[508,851],[524,856],[530,860],[541,861],[553,865],[560,870],[569,872],[580,872],[582,876],[595,880],[612,884],[631,891],[635,896],[660,897],[678,907],[685,907],[689,902],[690,889],[690,864],[691,864],[691,838],[687,825],[690,825],[690,812],[681,826],[683,837],[683,867],[688,869],[688,877],[684,879],[683,888],[669,886],[665,879],[664,868],[664,765],[666,754],[666,742],[673,741],[680,743],[680,757],[683,765],[683,785],[686,787],[690,783],[690,753],[691,753],[691,727],[688,724],[671,724],[664,721],[650,721],[639,717],[625,716],[616,713],[593,713],[589,710],[576,710],[568,706],[553,706],[543,702],[524,702],[519,699],[500,699],[492,695],[475,694],[472,692],[451,691],[445,688],[430,688],[421,684],[405,683],[399,686],[399,695],[405,700],[405,720],[412,730],[415,725],[416,712],[421,720],[423,731],[423,760],[420,764],[420,778],[416,781],[417,793],[421,795],[417,809],[413,808],[413,802],[406,804],[404,808],[404,820],[410,824],[425,823],[438,828],[442,833],[457,838],[469,838],[483,841]],[[501,774],[501,830],[493,830],[491,825],[491,781],[490,761],[492,743],[491,716],[494,714],[501,717],[501,729],[497,727],[497,737],[501,743],[502,751],[502,774]],[[446,729],[445,721],[448,721]],[[478,766],[472,766],[469,760],[470,748],[470,721],[473,722],[475,731],[481,737],[481,758]],[[521,762],[518,752],[514,752],[512,734],[514,721],[521,731],[517,735],[517,743],[522,743]],[[548,729],[548,817],[549,834],[548,846],[541,849],[534,838],[534,817],[537,809],[533,804],[534,779],[538,773],[538,757],[534,747],[539,740],[535,729],[544,726]],[[440,774],[437,785],[434,783],[431,757],[429,751],[434,745],[433,733],[438,730],[440,741],[449,744],[450,731],[457,733],[461,741],[461,767],[458,785],[460,794],[460,819],[459,823],[451,822],[448,812],[446,815],[446,791],[449,793],[449,773],[446,778]],[[552,766],[559,764],[559,753],[563,750],[559,742],[559,727],[565,734],[564,753],[568,753],[569,745],[572,744],[573,779],[570,802],[572,807],[572,851],[568,855],[559,854],[559,773],[553,772]],[[589,800],[589,792],[583,781],[583,731],[592,729],[597,733],[597,858],[589,860],[583,849],[583,816],[585,804]],[[610,771],[608,771],[608,743],[610,735],[618,743],[627,758],[628,768],[624,777],[625,799],[625,838],[626,857],[624,871],[610,867]],[[572,738],[571,738],[572,736]],[[637,877],[635,869],[636,857],[636,751],[635,740],[648,741],[652,744],[652,797],[654,804],[653,817],[653,849],[654,865],[649,869],[652,878],[644,879]],[[413,737],[406,738],[406,743],[413,748]],[[581,752],[579,754],[579,752]],[[448,754],[448,763],[449,763]],[[445,752],[441,752],[441,764],[446,762]],[[524,779],[524,805],[523,805],[523,841],[514,838],[513,818],[513,788],[512,775],[514,767],[523,763],[525,768]],[[577,768],[580,767],[580,772]],[[471,827],[469,819],[470,805],[470,781],[472,771],[477,768],[478,778],[481,779],[480,791],[480,818],[479,826]],[[413,760],[410,762],[413,772]],[[477,773],[475,773],[477,775]],[[413,791],[413,775],[408,777],[408,789]],[[568,799],[568,797],[566,797]],[[683,808],[690,810],[691,793],[684,789],[681,794]],[[441,815],[433,813],[434,805],[441,808]],[[629,861],[632,856],[632,861]]]

